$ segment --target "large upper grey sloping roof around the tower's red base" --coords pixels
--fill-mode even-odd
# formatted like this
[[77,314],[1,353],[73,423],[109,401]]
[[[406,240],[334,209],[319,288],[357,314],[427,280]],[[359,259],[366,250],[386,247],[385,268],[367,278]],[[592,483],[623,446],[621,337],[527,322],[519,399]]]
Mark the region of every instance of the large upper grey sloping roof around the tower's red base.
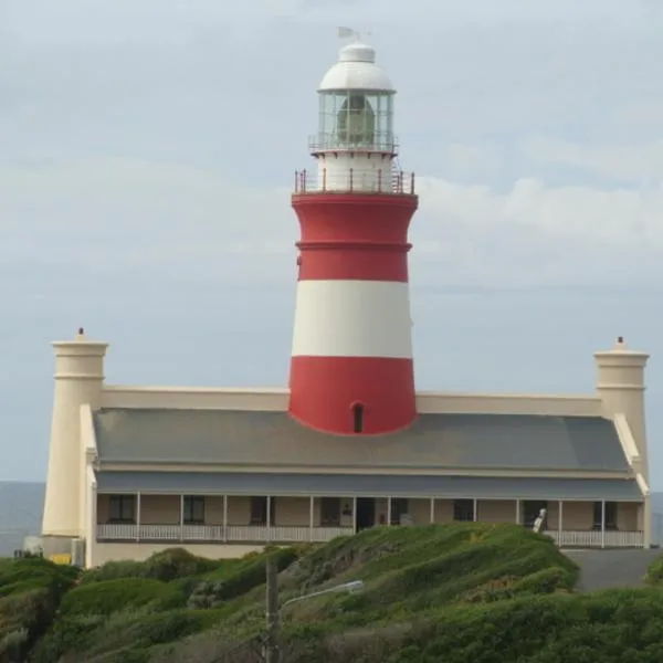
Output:
[[307,429],[286,412],[106,409],[94,414],[104,463],[629,472],[600,417],[421,414],[366,438]]

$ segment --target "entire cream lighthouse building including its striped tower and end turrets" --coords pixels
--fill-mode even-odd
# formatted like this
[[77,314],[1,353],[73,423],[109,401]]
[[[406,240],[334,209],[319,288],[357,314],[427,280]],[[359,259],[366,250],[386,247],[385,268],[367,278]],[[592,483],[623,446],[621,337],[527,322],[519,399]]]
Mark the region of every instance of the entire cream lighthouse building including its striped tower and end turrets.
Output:
[[649,547],[648,355],[594,355],[583,396],[417,392],[394,91],[364,44],[318,90],[287,389],[110,386],[107,344],[55,347],[48,555],[183,546],[234,557],[378,524],[513,522],[562,545]]

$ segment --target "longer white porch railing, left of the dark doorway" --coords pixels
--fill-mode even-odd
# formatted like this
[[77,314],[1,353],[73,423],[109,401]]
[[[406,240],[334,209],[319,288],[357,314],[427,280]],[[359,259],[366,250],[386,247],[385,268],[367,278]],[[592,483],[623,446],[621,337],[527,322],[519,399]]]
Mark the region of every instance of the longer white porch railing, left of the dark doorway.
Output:
[[330,541],[352,532],[352,527],[99,524],[96,534],[99,541],[286,544]]

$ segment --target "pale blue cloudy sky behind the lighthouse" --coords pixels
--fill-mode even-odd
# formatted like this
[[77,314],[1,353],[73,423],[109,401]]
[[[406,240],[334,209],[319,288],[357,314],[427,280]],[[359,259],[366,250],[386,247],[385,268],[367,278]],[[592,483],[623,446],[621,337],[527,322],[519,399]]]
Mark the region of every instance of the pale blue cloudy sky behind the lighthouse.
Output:
[[417,173],[418,387],[589,393],[623,335],[663,490],[663,0],[2,0],[0,480],[45,477],[80,326],[112,383],[285,386],[338,25]]

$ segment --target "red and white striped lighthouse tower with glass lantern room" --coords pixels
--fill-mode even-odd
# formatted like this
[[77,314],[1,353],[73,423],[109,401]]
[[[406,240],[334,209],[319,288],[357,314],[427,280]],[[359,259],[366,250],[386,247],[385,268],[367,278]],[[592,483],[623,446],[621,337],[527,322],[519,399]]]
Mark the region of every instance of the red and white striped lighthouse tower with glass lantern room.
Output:
[[386,433],[417,417],[408,227],[418,198],[397,164],[394,94],[373,49],[343,48],[318,88],[317,167],[295,176],[290,413],[330,433]]

